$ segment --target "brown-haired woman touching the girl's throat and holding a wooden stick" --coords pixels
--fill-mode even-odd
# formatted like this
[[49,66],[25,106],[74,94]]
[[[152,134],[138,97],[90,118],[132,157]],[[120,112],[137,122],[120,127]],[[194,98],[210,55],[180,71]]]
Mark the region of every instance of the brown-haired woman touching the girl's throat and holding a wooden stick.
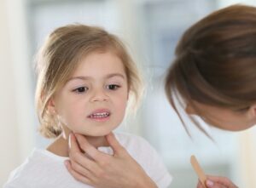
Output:
[[[256,123],[255,81],[256,8],[233,5],[209,14],[183,34],[167,73],[166,95],[175,111],[177,99],[188,115],[197,115],[217,128],[239,131]],[[178,111],[177,114],[183,122]],[[107,139],[113,147],[113,157],[97,151],[85,139],[78,140],[92,160],[105,161],[103,165],[97,163],[103,173],[91,172],[95,174],[96,187],[100,187],[98,182],[104,182],[105,188],[119,187],[120,182],[122,187],[156,187],[113,135]],[[78,143],[72,145],[71,153],[79,152]],[[83,182],[83,170],[89,164],[81,158],[70,160],[81,168],[74,171],[69,165],[69,172]],[[120,169],[125,171],[120,173]],[[208,188],[237,187],[224,177],[207,176],[205,184]],[[197,188],[201,187],[198,183]]]

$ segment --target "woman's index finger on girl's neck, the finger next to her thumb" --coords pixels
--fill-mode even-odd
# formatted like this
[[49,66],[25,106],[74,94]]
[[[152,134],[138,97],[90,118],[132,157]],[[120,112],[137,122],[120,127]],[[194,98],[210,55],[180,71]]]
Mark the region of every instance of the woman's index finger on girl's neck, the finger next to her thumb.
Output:
[[102,156],[106,155],[101,151],[98,151],[94,146],[90,145],[90,143],[86,140],[86,138],[81,134],[75,134],[80,148],[93,160],[96,162],[101,161]]

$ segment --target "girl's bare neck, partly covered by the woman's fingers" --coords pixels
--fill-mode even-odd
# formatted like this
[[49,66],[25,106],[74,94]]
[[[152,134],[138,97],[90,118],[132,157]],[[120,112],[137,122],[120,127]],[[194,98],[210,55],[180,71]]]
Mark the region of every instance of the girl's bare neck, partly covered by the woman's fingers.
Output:
[[[84,138],[86,138],[90,145],[93,145],[95,148],[101,146],[109,146],[104,136],[84,136]],[[61,134],[52,144],[46,148],[46,150],[54,153],[57,156],[68,157],[68,147],[68,138]]]

